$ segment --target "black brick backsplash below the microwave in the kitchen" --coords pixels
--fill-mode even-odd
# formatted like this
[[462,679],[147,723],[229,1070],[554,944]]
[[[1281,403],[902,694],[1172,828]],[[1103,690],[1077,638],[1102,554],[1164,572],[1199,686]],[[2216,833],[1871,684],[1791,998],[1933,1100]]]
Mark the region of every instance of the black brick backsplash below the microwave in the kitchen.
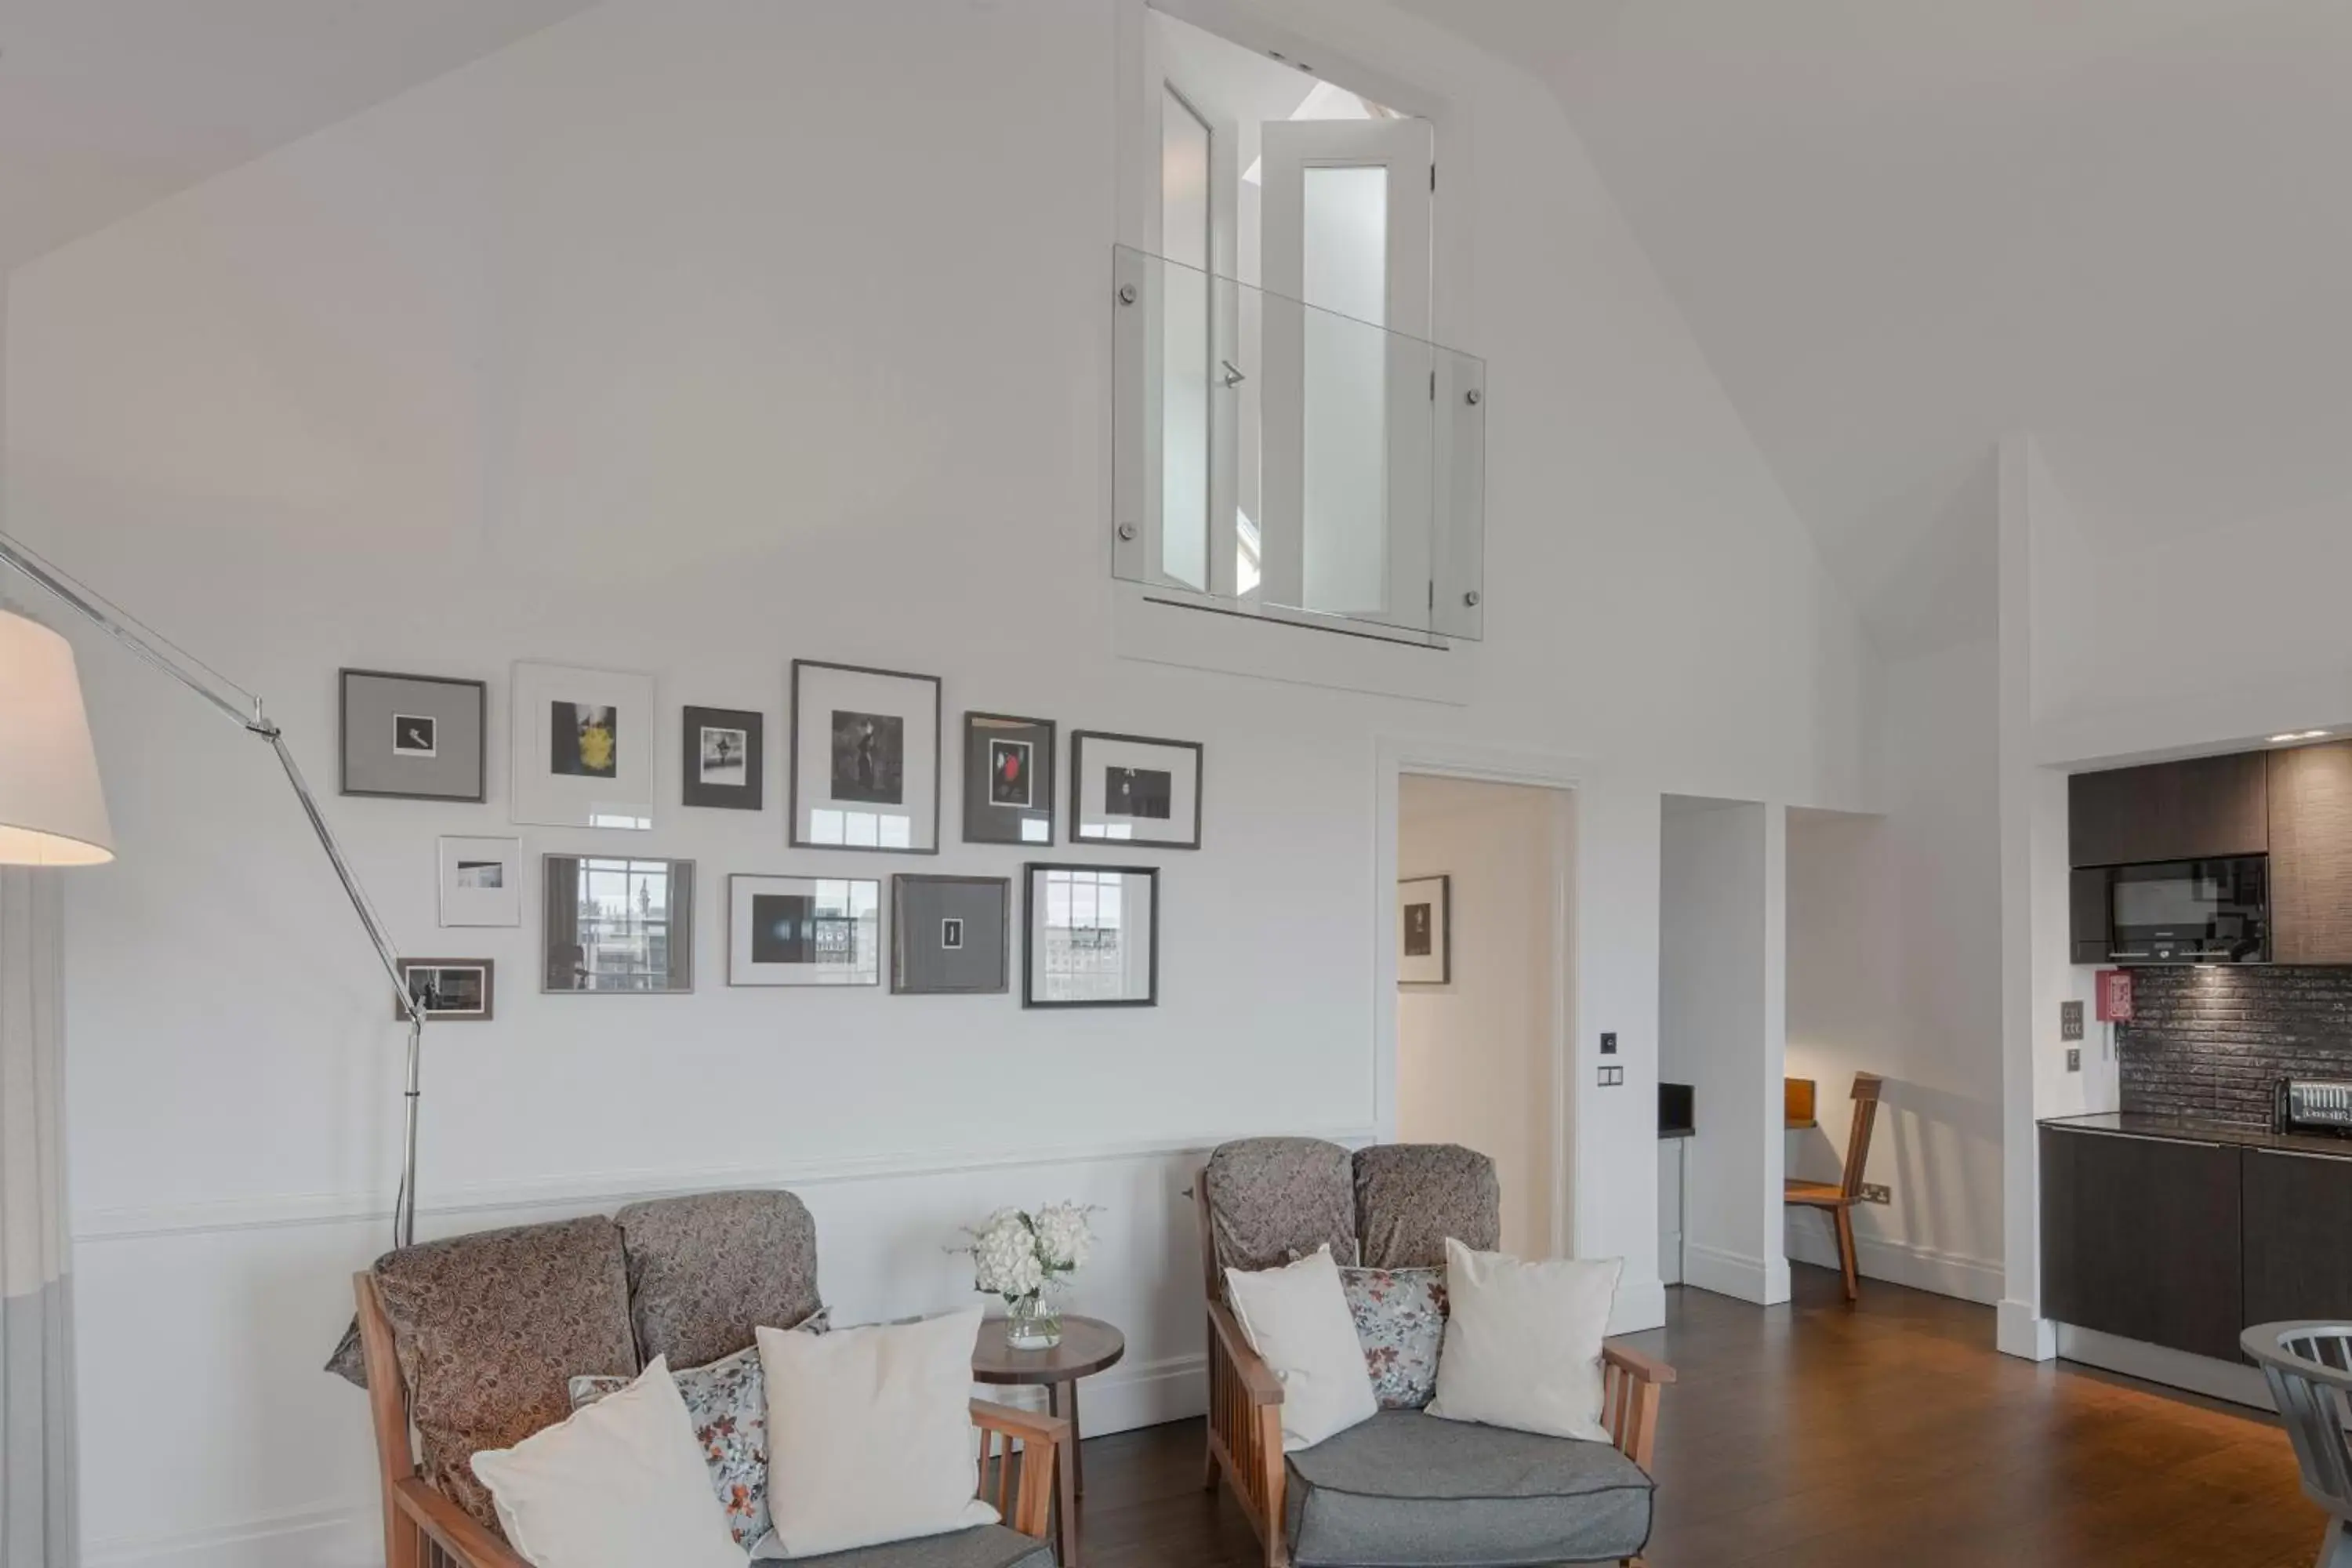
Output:
[[2281,1077],[2352,1079],[2352,969],[2138,969],[2131,1011],[2126,1112],[2263,1131]]

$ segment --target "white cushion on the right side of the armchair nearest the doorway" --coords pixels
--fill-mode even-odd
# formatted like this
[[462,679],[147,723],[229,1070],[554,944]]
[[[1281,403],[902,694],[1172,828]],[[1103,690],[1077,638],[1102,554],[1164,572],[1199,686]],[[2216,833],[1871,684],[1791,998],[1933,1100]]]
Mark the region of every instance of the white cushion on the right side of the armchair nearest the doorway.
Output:
[[1446,1237],[1446,1342],[1430,1415],[1609,1441],[1602,1338],[1623,1258],[1519,1262]]

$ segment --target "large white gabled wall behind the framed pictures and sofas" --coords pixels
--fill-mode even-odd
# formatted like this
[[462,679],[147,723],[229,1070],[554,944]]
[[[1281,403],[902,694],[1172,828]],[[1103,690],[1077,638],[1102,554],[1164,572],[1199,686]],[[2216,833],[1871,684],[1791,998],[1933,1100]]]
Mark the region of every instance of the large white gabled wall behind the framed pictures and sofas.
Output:
[[[1110,656],[1091,0],[616,0],[12,275],[12,529],[266,691],[320,780],[339,665],[492,682],[492,804],[327,802],[405,947],[506,978],[499,1023],[433,1037],[426,1232],[783,1180],[866,1316],[955,1300],[941,1248],[990,1204],[1075,1194],[1105,1206],[1077,1307],[1131,1340],[1089,1415],[1197,1406],[1174,1190],[1218,1135],[1378,1131],[1371,762],[1435,736],[1590,762],[1576,1072],[1618,1030],[1628,1091],[1576,1098],[1573,1234],[1656,1321],[1658,792],[1856,804],[1860,639],[1550,94],[1378,5],[1265,9],[1461,106],[1465,708]],[[694,997],[539,997],[529,929],[433,926],[433,837],[506,830],[510,661],[764,708],[776,788],[793,656],[1204,741],[1207,846],[1155,856],[1162,1006],[722,987],[727,872],[1021,858],[953,842],[953,780],[936,860],[786,851],[776,804],[670,806],[668,736],[630,846],[701,865]],[[400,1037],[261,748],[82,668],[122,839],[71,903],[92,1561],[365,1563],[365,1415],[315,1366],[386,1234]]]

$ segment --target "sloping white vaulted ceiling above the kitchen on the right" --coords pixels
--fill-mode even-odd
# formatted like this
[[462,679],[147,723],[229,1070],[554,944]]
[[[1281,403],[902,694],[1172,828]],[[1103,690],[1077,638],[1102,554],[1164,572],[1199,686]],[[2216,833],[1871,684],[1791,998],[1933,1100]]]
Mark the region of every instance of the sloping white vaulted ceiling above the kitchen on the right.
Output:
[[1402,2],[1545,75],[1884,646],[1990,635],[2006,430],[2100,550],[2352,527],[2352,5]]

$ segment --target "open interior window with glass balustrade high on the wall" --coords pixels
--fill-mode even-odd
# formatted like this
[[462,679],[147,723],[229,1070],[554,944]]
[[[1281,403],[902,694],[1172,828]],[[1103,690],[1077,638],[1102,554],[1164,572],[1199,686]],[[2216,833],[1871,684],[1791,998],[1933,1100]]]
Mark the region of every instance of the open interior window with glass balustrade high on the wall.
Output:
[[1435,120],[1138,12],[1115,574],[1477,637],[1484,367],[1432,341]]

